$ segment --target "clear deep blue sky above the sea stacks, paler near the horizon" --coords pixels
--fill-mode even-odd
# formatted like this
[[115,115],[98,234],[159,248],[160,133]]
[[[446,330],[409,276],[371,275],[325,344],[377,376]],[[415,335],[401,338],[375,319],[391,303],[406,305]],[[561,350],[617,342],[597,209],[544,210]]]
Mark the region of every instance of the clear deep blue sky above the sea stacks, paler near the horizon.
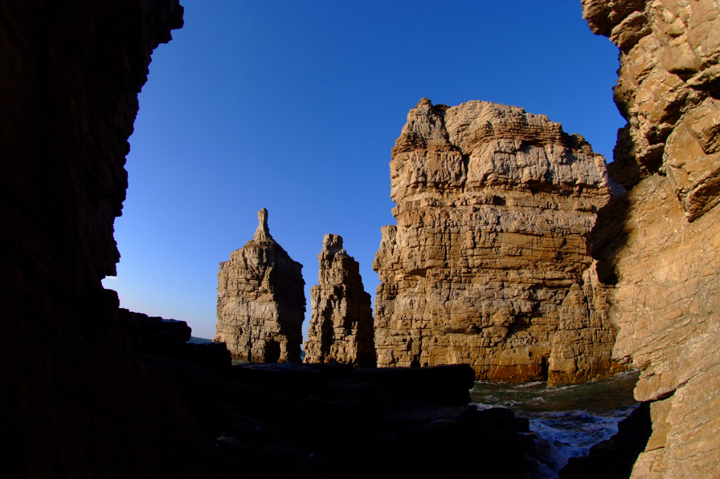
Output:
[[153,54],[115,222],[121,306],[215,335],[217,266],[269,210],[310,286],[341,234],[374,297],[390,148],[423,96],[546,114],[611,158],[618,50],[580,0],[181,0]]

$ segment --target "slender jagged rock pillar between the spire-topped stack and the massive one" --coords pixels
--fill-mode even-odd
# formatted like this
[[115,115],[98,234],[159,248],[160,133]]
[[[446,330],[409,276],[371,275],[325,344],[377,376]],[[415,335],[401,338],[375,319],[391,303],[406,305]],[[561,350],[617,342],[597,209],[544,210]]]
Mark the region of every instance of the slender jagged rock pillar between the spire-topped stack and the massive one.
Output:
[[318,260],[319,284],[310,288],[305,362],[375,365],[371,298],[358,262],[343,250],[339,234],[325,234]]

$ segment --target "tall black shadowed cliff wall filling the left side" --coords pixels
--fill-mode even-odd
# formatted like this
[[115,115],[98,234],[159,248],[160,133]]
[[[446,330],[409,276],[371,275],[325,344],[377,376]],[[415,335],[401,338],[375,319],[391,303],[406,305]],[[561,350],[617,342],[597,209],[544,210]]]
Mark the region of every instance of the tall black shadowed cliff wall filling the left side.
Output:
[[130,316],[100,283],[119,259],[113,222],[150,53],[182,14],[177,0],[0,4],[5,477],[200,472],[209,443],[171,362],[130,352]]

